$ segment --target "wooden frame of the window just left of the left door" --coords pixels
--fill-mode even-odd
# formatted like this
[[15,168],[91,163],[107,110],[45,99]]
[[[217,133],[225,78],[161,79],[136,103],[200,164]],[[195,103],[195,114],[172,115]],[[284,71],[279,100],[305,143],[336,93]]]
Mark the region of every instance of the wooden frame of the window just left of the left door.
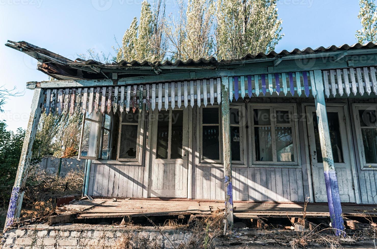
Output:
[[[136,156],[135,158],[120,158],[120,143],[121,143],[121,132],[122,132],[122,125],[136,125],[136,123],[129,123],[129,122],[122,122],[123,120],[123,114],[120,115],[119,118],[119,132],[118,132],[118,148],[116,151],[116,161],[120,161],[123,164],[132,164],[132,165],[141,165],[141,159],[143,155],[143,141],[144,141],[144,121],[145,121],[145,105],[143,104],[143,110],[139,111],[139,121],[137,123],[138,126],[138,134],[137,134],[137,141],[136,141]],[[138,105],[136,105],[136,108],[139,108]],[[125,112],[125,111],[124,111]],[[132,109],[130,108],[130,111],[132,112]],[[113,161],[113,160],[111,160]]]

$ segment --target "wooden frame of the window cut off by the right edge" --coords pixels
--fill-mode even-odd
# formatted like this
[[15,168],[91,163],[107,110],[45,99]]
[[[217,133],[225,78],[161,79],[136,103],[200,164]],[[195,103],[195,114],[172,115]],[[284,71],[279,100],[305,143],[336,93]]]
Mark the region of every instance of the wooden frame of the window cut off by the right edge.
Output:
[[[374,167],[377,167],[377,163],[367,163],[365,161],[365,150],[364,150],[364,143],[363,143],[363,136],[361,133],[362,126],[360,124],[359,118],[359,110],[374,107],[377,113],[377,104],[375,103],[353,103],[352,104],[352,111],[353,111],[353,118],[356,130],[356,140],[357,140],[357,148],[359,149],[359,158],[360,158],[360,168],[362,170],[375,170]],[[364,126],[363,126],[364,127]],[[372,167],[369,167],[371,165]]]

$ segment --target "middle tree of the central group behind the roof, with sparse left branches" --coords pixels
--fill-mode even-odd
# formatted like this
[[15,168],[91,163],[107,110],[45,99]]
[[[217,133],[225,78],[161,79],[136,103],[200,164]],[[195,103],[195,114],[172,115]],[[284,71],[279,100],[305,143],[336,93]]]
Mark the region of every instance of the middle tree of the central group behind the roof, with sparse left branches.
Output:
[[215,4],[213,0],[179,2],[178,18],[170,17],[167,37],[173,47],[171,60],[210,58],[214,52]]

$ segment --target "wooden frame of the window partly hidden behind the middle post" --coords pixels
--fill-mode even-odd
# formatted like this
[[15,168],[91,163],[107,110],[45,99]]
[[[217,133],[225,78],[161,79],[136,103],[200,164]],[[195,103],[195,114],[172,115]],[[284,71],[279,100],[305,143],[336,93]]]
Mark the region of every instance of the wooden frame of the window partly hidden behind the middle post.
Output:
[[[219,160],[212,160],[212,159],[203,159],[203,108],[219,108]],[[239,126],[240,131],[240,158],[239,161],[231,160],[232,165],[236,165],[236,167],[247,167],[247,133],[246,133],[246,126],[247,126],[247,118],[246,118],[246,108],[244,103],[230,103],[229,109],[238,108],[239,109],[239,125],[231,125],[230,126]],[[222,146],[222,111],[221,105],[201,105],[199,108],[199,122],[197,128],[197,148],[199,148],[199,161],[197,163],[198,167],[201,166],[222,166],[223,164],[223,146]],[[207,125],[217,125],[217,124],[204,124]]]

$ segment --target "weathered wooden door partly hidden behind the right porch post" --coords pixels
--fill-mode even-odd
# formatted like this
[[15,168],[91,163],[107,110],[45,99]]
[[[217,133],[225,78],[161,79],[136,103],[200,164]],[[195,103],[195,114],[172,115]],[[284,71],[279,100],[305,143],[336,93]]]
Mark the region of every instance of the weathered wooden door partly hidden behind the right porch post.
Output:
[[[331,147],[333,149],[334,165],[338,179],[341,202],[355,202],[351,160],[347,142],[346,123],[343,107],[326,107],[329,123]],[[313,175],[314,201],[327,202],[325,176],[323,175],[323,160],[319,141],[318,120],[314,106],[307,106],[307,123],[311,169]]]

